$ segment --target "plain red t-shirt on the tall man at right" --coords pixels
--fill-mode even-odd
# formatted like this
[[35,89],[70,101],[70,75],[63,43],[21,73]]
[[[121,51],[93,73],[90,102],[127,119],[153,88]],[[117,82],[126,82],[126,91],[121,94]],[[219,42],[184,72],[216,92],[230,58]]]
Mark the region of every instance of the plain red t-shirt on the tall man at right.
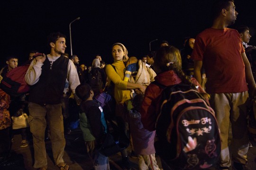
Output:
[[208,28],[197,35],[191,58],[202,61],[207,93],[247,91],[245,52],[237,30]]

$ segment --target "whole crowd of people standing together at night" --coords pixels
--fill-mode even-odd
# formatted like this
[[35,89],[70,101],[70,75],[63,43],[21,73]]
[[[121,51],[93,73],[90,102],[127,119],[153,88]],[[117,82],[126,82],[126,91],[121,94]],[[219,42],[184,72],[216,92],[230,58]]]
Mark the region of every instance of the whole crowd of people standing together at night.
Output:
[[[45,140],[49,137],[55,165],[69,170],[63,160],[64,133],[71,133],[71,112],[77,110],[75,119],[80,119],[85,147],[95,170],[110,170],[108,157],[99,148],[111,121],[119,136],[128,139],[139,168],[160,170],[154,142],[163,89],[152,83],[156,81],[165,86],[184,83],[210,94],[207,101],[215,111],[221,138],[219,162],[213,166],[221,170],[231,166],[234,170],[248,170],[247,109],[256,90],[256,47],[247,44],[251,38],[247,26],[227,28],[238,16],[233,0],[218,1],[212,9],[212,26],[195,38],[186,37],[183,49],[163,41],[157,51],[137,58],[128,57],[125,45],[118,42],[111,47],[110,64],[100,54],[91,63],[79,63],[77,55],[69,57],[65,53],[66,36],[59,32],[50,34],[49,54],[29,53],[30,66],[25,76],[31,86],[29,93],[13,98],[0,89],[0,160],[9,155],[14,130],[11,117],[18,117],[21,111],[29,115],[29,127],[19,129],[20,147],[33,141],[34,168],[47,169]],[[18,66],[18,58],[9,56],[6,64],[0,70],[0,80]],[[115,101],[111,119],[105,119],[104,108],[95,100],[102,93],[108,93]],[[71,102],[75,103],[74,108],[70,108]],[[127,146],[120,154],[122,169],[130,170]],[[164,160],[161,164],[164,170],[173,169]]]

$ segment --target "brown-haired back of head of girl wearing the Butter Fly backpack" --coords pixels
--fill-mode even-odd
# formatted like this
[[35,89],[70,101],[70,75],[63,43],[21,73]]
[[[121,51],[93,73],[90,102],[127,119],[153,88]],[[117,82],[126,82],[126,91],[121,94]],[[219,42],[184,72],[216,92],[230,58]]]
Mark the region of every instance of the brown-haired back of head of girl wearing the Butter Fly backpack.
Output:
[[157,72],[181,69],[182,61],[180,51],[174,46],[161,47],[156,52],[154,64]]

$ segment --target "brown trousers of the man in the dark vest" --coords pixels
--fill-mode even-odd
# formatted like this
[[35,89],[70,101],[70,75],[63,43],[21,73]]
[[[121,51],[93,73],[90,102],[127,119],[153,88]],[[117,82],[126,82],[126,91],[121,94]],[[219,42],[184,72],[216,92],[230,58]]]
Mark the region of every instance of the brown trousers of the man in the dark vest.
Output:
[[28,104],[30,122],[30,131],[33,135],[33,144],[35,152],[34,168],[40,168],[47,165],[46,146],[45,146],[45,130],[46,119],[51,133],[51,143],[53,150],[53,158],[55,164],[64,162],[64,127],[61,104],[47,104],[41,106],[30,102]]

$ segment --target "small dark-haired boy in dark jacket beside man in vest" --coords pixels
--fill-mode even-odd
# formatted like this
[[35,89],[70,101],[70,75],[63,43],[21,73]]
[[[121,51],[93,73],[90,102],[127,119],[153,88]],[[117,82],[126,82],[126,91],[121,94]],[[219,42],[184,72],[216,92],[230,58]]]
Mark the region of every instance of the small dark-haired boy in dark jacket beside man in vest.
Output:
[[80,104],[80,127],[94,170],[110,170],[108,157],[97,150],[101,146],[104,134],[107,133],[102,108],[98,102],[92,100],[94,94],[90,85],[78,85],[75,93],[82,99]]

